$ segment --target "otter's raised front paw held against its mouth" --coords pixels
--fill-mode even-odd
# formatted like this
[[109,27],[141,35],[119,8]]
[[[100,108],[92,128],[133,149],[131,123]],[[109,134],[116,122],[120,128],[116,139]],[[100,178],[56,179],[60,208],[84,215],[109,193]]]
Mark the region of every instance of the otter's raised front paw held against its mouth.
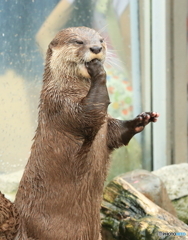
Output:
[[97,80],[99,78],[106,80],[106,72],[101,61],[93,59],[92,61],[87,62],[85,66],[92,80]]

